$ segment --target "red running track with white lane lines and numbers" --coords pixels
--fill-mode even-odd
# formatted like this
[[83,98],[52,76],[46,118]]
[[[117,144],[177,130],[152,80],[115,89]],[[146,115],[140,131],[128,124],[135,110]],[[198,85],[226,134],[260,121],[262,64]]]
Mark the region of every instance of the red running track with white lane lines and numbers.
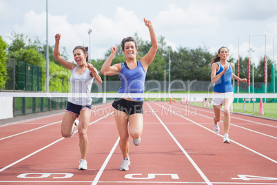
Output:
[[180,102],[144,102],[143,109],[129,171],[119,171],[110,103],[93,110],[86,171],[78,170],[78,135],[61,138],[63,113],[0,124],[0,184],[277,184],[276,121],[233,113],[231,144],[223,144],[212,109]]

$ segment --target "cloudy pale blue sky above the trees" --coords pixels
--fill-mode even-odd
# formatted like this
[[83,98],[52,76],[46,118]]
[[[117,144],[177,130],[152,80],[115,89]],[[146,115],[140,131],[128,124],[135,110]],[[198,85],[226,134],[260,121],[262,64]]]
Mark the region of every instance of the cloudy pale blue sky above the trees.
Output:
[[[103,59],[134,33],[150,41],[143,18],[173,50],[205,47],[216,53],[226,46],[236,59],[248,57],[251,48],[254,63],[265,54],[277,57],[276,0],[48,0],[48,44],[60,33],[69,61],[76,45],[90,47],[90,58]],[[8,44],[12,32],[46,43],[46,0],[0,0],[0,23]]]

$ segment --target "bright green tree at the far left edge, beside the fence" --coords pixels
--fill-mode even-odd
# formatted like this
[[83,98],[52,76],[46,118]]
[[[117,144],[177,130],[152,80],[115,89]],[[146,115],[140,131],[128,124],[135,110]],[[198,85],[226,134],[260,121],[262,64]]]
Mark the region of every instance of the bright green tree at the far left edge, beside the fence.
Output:
[[7,69],[6,69],[6,49],[8,44],[3,41],[2,36],[0,36],[0,89],[3,89],[6,83]]

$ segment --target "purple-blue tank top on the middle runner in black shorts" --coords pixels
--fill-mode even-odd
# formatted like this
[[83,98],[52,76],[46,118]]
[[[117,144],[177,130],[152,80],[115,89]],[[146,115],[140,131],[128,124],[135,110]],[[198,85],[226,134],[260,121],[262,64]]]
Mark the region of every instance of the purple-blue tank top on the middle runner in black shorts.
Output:
[[[121,87],[119,93],[143,93],[146,73],[138,61],[138,66],[134,69],[127,69],[124,63],[121,63],[121,70],[119,72],[119,79],[121,80]],[[132,100],[142,101],[143,98],[131,98]]]

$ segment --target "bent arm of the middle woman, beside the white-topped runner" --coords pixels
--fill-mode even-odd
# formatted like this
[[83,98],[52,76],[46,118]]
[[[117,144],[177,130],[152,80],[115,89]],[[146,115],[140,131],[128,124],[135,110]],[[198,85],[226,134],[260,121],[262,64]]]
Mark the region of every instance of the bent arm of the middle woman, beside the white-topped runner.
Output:
[[105,63],[103,63],[103,65],[101,67],[101,71],[100,71],[101,74],[106,75],[106,76],[112,76],[115,74],[119,74],[119,72],[121,70],[121,64],[117,63],[115,65],[112,65],[112,59],[114,58],[117,50],[118,50],[117,45],[111,48],[110,56],[107,58],[107,60],[105,61]]

